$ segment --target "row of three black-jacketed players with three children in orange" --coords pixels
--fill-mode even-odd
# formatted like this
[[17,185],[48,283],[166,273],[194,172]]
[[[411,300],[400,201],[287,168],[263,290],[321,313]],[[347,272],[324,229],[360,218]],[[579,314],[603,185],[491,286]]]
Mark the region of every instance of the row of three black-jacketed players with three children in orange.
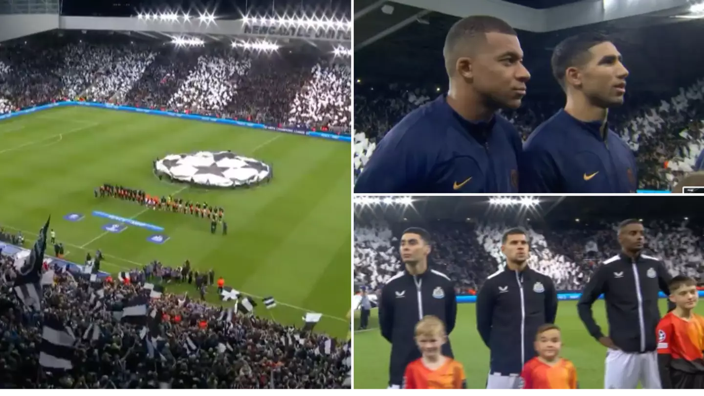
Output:
[[[662,261],[643,254],[643,231],[638,220],[620,224],[621,253],[596,268],[577,304],[589,334],[608,351],[603,389],[634,391],[640,383],[646,391],[704,391],[704,317],[693,313],[696,282],[672,277]],[[477,295],[477,330],[490,350],[486,390],[578,390],[577,369],[560,356],[555,285],[527,266],[529,246],[521,228],[506,231],[501,239],[506,266]],[[379,328],[391,342],[389,391],[467,390],[463,365],[453,359],[448,340],[457,316],[454,285],[429,268],[431,249],[426,230],[405,230],[400,245],[405,271],[382,288]],[[670,307],[662,318],[660,291]],[[608,335],[592,313],[601,295]]]

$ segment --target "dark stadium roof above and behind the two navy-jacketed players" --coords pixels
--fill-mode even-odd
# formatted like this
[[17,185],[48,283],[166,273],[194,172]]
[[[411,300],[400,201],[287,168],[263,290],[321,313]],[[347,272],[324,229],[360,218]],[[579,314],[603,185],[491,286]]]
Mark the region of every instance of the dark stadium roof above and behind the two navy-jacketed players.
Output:
[[534,82],[539,82],[529,87],[529,94],[543,85],[558,90],[549,73],[551,51],[565,37],[586,30],[608,33],[619,44],[627,67],[644,68],[631,73],[629,89],[662,90],[679,86],[677,78],[684,79],[654,74],[658,63],[672,58],[663,54],[688,48],[684,49],[688,56],[699,55],[691,48],[700,47],[696,37],[704,33],[704,24],[674,18],[688,16],[691,4],[688,0],[356,0],[355,78],[444,86],[441,49],[448,29],[459,16],[489,14],[517,28],[526,64]]

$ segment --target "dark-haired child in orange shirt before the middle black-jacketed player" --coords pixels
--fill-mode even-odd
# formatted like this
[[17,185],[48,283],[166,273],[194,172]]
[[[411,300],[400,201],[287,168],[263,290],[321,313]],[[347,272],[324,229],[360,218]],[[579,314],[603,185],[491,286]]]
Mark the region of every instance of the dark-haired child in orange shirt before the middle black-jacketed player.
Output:
[[577,369],[560,357],[562,333],[553,323],[538,328],[534,342],[538,356],[527,361],[521,371],[521,390],[578,390]]

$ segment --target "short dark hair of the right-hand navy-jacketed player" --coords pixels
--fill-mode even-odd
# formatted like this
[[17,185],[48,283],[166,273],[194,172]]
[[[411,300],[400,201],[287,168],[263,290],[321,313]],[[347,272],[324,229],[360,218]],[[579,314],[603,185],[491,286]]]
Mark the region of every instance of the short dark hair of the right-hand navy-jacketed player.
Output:
[[580,33],[562,40],[553,50],[550,64],[553,77],[565,89],[565,73],[568,68],[584,66],[591,60],[589,49],[603,42],[611,42],[607,35],[598,32]]

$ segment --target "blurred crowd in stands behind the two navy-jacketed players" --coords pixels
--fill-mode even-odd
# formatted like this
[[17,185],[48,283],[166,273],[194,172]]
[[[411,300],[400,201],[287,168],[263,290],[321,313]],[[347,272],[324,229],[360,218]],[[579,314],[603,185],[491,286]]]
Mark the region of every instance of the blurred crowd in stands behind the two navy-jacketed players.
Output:
[[[358,89],[354,99],[354,167],[367,163],[376,142],[394,124],[418,106],[441,94],[439,89]],[[431,92],[432,91],[432,92]],[[637,101],[636,101],[637,100]],[[639,163],[639,188],[670,190],[678,178],[691,172],[704,149],[704,79],[679,89],[672,97],[628,99],[610,113],[610,123],[629,144]],[[524,102],[517,111],[503,111],[523,139],[562,106],[562,99]]]

